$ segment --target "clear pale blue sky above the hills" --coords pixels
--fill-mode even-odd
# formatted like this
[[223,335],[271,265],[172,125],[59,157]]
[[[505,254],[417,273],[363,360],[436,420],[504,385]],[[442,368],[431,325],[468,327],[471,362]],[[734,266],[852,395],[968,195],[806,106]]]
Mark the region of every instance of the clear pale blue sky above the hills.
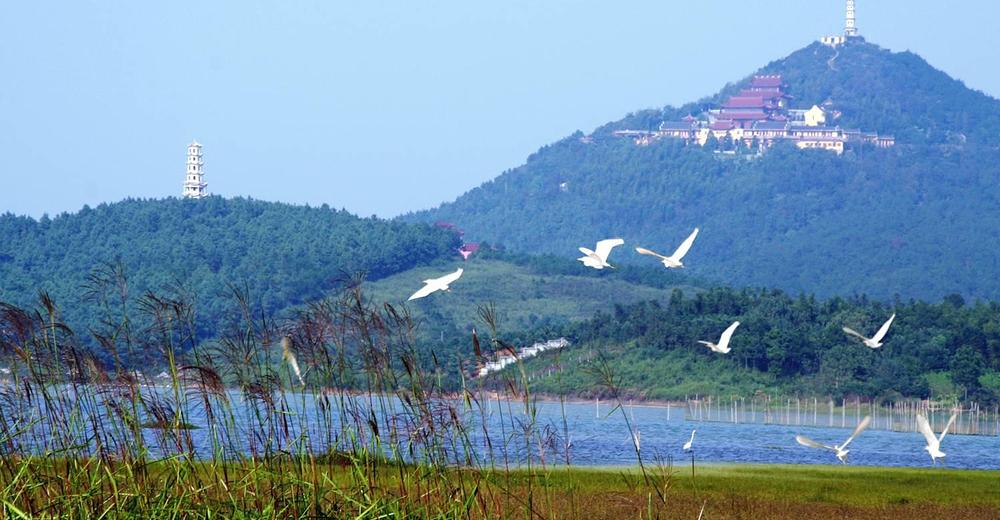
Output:
[[[1000,95],[1000,2],[857,4],[869,41]],[[0,213],[179,196],[192,139],[214,194],[386,218],[435,207],[576,130],[696,100],[840,33],[843,11],[842,0],[10,2]]]

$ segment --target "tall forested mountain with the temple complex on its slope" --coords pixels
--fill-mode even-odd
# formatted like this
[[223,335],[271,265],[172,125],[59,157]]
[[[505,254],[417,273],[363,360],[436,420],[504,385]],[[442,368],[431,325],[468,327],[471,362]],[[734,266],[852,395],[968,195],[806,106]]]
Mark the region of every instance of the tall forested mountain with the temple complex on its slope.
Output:
[[717,106],[740,82],[697,104],[632,114],[592,140],[578,133],[545,146],[456,201],[404,218],[564,256],[621,236],[628,244],[615,256],[625,262],[651,261],[632,246],[669,253],[700,227],[685,264],[719,283],[1000,298],[1000,249],[989,246],[1000,234],[1000,102],[912,53],[864,42],[814,44],[760,72],[786,78],[793,107],[829,100],[843,114],[836,124],[895,134],[898,145],[842,156],[776,147],[754,158],[611,137]]

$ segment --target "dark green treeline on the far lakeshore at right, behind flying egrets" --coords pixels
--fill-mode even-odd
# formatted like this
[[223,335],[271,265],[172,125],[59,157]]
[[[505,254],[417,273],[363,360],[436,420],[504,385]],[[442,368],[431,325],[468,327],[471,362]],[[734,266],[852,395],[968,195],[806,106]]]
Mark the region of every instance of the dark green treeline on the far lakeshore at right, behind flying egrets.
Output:
[[[847,326],[870,336],[893,313],[896,319],[877,350],[842,330]],[[737,320],[741,325],[729,354],[697,343],[716,341]],[[931,304],[865,297],[819,300],[775,290],[675,291],[667,305],[616,307],[585,322],[536,332],[539,337],[555,334],[572,338],[578,354],[593,353],[586,361],[568,359],[579,361],[570,361],[563,371],[578,386],[576,392],[594,388],[586,374],[600,355],[623,388],[664,398],[683,397],[678,389],[690,388],[687,380],[710,373],[720,382],[716,389],[731,380],[736,382],[731,388],[745,393],[779,389],[838,398],[1000,401],[1000,304],[967,304],[958,295]],[[657,377],[660,358],[688,371],[677,379]],[[553,380],[539,387],[552,389]]]

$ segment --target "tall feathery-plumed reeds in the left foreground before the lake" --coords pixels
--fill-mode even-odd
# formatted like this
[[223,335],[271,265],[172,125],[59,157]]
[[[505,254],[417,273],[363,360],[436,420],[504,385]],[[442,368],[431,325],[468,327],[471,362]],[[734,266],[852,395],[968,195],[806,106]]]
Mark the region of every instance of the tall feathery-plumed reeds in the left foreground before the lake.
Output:
[[[231,286],[235,311],[206,344],[182,285],[135,296],[115,265],[88,282],[102,318],[85,335],[45,294],[0,303],[0,517],[576,516],[549,485],[571,462],[565,413],[539,420],[523,365],[491,383],[447,373],[409,310],[362,287],[279,320]],[[488,337],[473,333],[469,357],[513,351],[494,306],[478,314]],[[669,472],[636,457],[639,516],[658,517]]]

